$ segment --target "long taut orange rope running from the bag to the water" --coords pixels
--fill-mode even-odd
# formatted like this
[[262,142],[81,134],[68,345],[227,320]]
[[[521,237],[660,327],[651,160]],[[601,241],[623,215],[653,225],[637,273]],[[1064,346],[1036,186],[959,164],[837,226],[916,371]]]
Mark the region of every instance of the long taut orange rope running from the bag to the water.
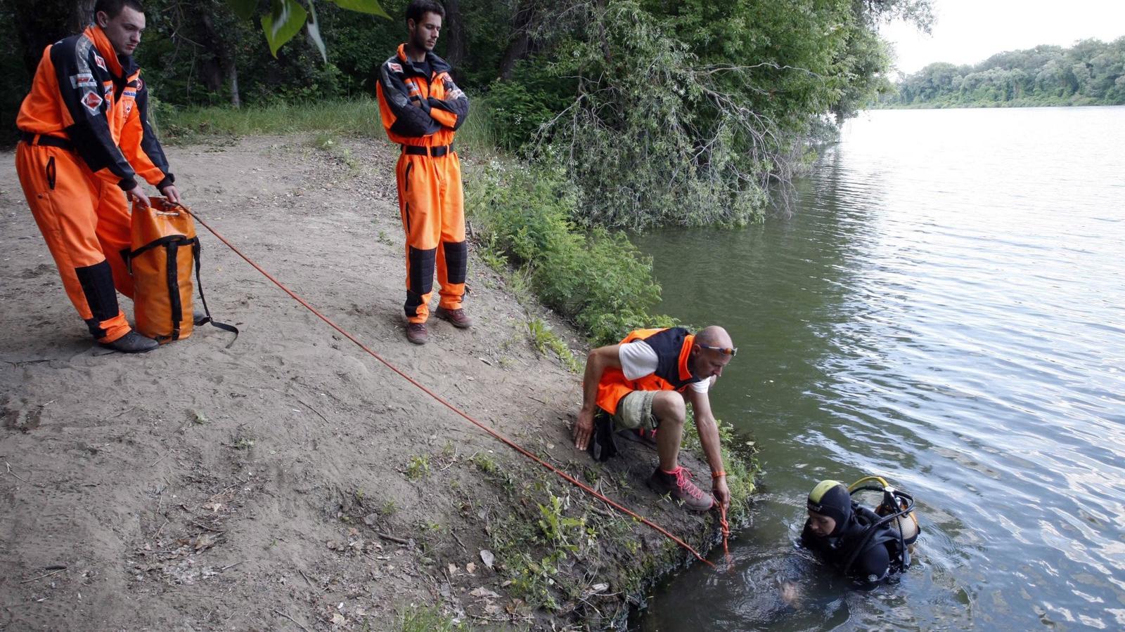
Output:
[[188,209],[187,207],[182,207],[182,208],[183,208],[183,210],[186,210],[188,213],[188,215],[191,215],[192,217],[195,217],[199,222],[199,224],[201,224],[204,226],[204,228],[207,228],[208,231],[210,231],[210,233],[213,235],[215,235],[215,237],[218,238],[218,241],[223,242],[228,249],[231,249],[232,251],[234,251],[235,254],[237,254],[246,263],[249,263],[250,265],[252,265],[254,268],[254,270],[258,270],[259,272],[262,273],[262,276],[264,276],[267,279],[269,279],[270,281],[272,281],[274,286],[281,288],[281,290],[284,292],[286,292],[287,295],[289,295],[290,297],[292,297],[294,300],[296,300],[297,303],[299,303],[303,306],[305,306],[306,309],[308,309],[309,312],[312,312],[313,314],[315,314],[321,320],[324,320],[325,323],[327,323],[328,326],[331,326],[333,329],[340,332],[341,335],[343,335],[348,340],[350,340],[353,343],[356,343],[357,346],[359,346],[360,349],[362,349],[363,351],[366,351],[371,358],[375,358],[376,360],[378,360],[379,362],[381,362],[384,365],[386,365],[388,369],[390,369],[392,371],[394,371],[394,372],[398,373],[399,376],[402,376],[403,379],[405,379],[406,381],[408,381],[412,385],[416,386],[423,392],[425,392],[430,397],[436,399],[439,403],[441,403],[443,406],[446,406],[450,410],[457,413],[461,417],[465,417],[467,421],[469,421],[470,423],[472,423],[474,425],[476,425],[480,430],[483,430],[483,431],[487,432],[488,434],[493,435],[493,437],[495,437],[495,439],[500,440],[501,442],[507,444],[510,448],[512,448],[516,452],[523,454],[524,457],[531,459],[532,461],[534,461],[534,462],[539,463],[540,466],[547,468],[548,470],[555,472],[559,477],[566,479],[572,485],[578,487],[583,491],[590,494],[591,496],[597,498],[598,500],[605,503],[606,505],[613,507],[614,509],[616,509],[616,511],[619,511],[619,512],[621,512],[621,513],[623,513],[626,515],[629,515],[629,516],[631,516],[631,517],[633,517],[633,518],[636,518],[636,520],[645,523],[646,525],[648,525],[651,529],[656,530],[658,533],[660,533],[665,538],[668,538],[669,540],[672,540],[676,544],[680,544],[681,547],[683,547],[684,549],[686,549],[688,552],[691,552],[693,556],[695,556],[695,558],[699,559],[701,562],[703,562],[703,563],[705,563],[705,565],[714,568],[714,565],[711,563],[710,561],[708,561],[705,558],[703,558],[703,556],[701,556],[699,553],[699,551],[696,551],[695,549],[693,549],[690,544],[687,544],[686,542],[684,542],[680,538],[676,538],[675,535],[673,535],[672,533],[669,533],[667,530],[665,530],[660,525],[658,525],[658,524],[654,523],[652,521],[650,521],[650,520],[648,520],[648,518],[646,518],[646,517],[644,517],[644,516],[634,513],[632,509],[629,509],[628,507],[624,507],[623,505],[620,505],[620,504],[611,500],[605,495],[601,494],[600,491],[595,490],[594,488],[590,487],[588,485],[586,485],[586,484],[582,482],[580,480],[574,478],[573,476],[564,472],[562,470],[559,470],[558,468],[556,468],[555,466],[551,466],[547,461],[543,461],[539,457],[536,457],[533,453],[531,453],[528,450],[521,448],[518,443],[515,443],[511,439],[507,439],[506,436],[504,436],[503,434],[496,432],[495,430],[493,430],[493,428],[486,426],[485,424],[483,424],[483,423],[474,419],[472,417],[470,417],[468,414],[466,414],[465,412],[462,412],[457,406],[453,406],[452,404],[450,404],[449,401],[447,401],[446,399],[443,399],[438,394],[435,394],[432,390],[430,390],[429,388],[422,386],[414,378],[407,376],[405,372],[403,372],[402,370],[399,370],[398,367],[395,367],[390,362],[384,360],[382,356],[380,356],[378,353],[371,351],[370,347],[368,347],[366,344],[363,344],[362,342],[360,342],[359,340],[357,340],[356,336],[353,336],[350,333],[348,333],[340,325],[336,325],[335,323],[333,323],[332,319],[330,319],[324,314],[321,314],[315,307],[313,307],[312,305],[309,305],[308,301],[306,301],[305,299],[300,298],[292,290],[290,290],[289,288],[287,288],[284,283],[281,283],[280,281],[278,281],[277,279],[274,279],[269,272],[267,272],[260,265],[258,265],[256,263],[254,263],[249,256],[242,254],[242,251],[240,251],[238,249],[234,247],[234,244],[232,244],[231,242],[226,241],[226,238],[223,237],[223,235],[219,235],[214,228],[210,227],[210,225],[208,225],[206,222],[204,222],[202,218],[200,218],[195,211]]

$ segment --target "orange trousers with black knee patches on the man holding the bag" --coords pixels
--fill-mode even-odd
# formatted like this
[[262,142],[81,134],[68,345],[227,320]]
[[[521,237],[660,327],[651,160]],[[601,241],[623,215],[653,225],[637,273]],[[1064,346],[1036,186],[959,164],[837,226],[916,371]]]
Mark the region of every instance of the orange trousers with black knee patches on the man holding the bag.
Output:
[[90,333],[106,343],[129,333],[114,291],[133,298],[133,277],[120,255],[129,247],[125,192],[62,147],[21,141],[16,172],[66,295]]

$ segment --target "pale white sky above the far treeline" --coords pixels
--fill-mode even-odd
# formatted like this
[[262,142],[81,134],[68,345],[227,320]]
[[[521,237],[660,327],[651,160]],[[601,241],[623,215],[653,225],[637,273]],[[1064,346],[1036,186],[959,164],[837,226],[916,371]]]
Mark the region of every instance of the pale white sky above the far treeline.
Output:
[[1038,44],[1068,47],[1095,37],[1125,36],[1125,0],[933,0],[932,35],[902,22],[880,33],[894,46],[904,74],[933,62],[974,64],[996,53]]

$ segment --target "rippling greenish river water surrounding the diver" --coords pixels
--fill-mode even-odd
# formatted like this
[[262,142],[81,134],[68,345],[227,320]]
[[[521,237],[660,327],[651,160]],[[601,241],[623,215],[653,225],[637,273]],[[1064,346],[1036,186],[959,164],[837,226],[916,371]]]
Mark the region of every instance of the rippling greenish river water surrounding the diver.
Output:
[[[633,626],[1125,629],[1125,108],[865,112],[798,188],[789,217],[638,240],[660,310],[731,332],[712,406],[763,473],[730,571]],[[793,542],[817,481],[866,473],[924,533],[861,593]]]

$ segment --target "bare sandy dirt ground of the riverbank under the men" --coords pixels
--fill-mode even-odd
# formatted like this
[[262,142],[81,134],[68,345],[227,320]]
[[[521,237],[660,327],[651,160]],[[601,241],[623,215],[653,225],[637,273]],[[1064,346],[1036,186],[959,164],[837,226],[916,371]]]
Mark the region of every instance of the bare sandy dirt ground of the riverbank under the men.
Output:
[[[532,347],[539,310],[478,260],[476,327],[432,319],[430,344],[406,343],[392,148],[286,137],[169,154],[189,206],[292,290],[478,419],[590,468],[568,443],[579,378]],[[208,304],[242,335],[227,349],[230,334],[205,326],[147,354],[109,352],[66,300],[0,154],[0,629],[389,630],[414,605],[485,628],[620,615],[613,586],[554,613],[513,597],[508,569],[479,551],[513,504],[533,516],[541,500],[511,482],[505,495],[475,463],[515,480],[540,470],[199,232]],[[596,468],[620,475],[606,491],[699,531],[644,488],[651,462]],[[587,497],[551,485],[588,514]],[[616,563],[582,553],[567,568],[591,585]]]

